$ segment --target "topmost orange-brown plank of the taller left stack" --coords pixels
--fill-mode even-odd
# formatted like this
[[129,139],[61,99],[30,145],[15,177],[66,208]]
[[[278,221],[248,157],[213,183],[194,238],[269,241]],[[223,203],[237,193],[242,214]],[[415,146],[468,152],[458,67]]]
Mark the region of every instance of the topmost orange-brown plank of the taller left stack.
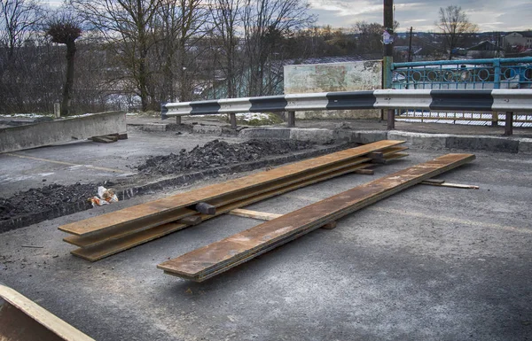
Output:
[[403,143],[403,141],[383,140],[376,143],[365,144],[346,151],[338,151],[318,158],[303,160],[291,165],[274,168],[270,171],[251,174],[228,182],[203,187],[199,190],[192,190],[168,198],[155,200],[150,203],[128,207],[113,213],[102,214],[84,221],[76,221],[60,226],[59,229],[75,236],[88,235],[102,229],[118,227],[133,221],[151,219],[163,213],[171,214],[171,212],[175,210],[197,204],[201,201],[208,201],[223,195],[229,195],[239,190],[261,186],[268,182],[277,182],[286,177],[293,176],[294,174],[301,174],[303,172],[308,172],[311,169],[326,167],[332,163],[355,159],[369,152],[382,151],[401,143]]

